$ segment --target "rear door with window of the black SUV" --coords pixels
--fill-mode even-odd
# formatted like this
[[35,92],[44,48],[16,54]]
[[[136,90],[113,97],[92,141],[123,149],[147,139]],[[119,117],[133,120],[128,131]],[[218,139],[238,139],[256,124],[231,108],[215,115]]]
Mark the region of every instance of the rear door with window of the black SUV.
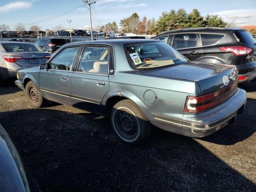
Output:
[[191,61],[200,60],[203,50],[198,33],[174,34],[171,46]]

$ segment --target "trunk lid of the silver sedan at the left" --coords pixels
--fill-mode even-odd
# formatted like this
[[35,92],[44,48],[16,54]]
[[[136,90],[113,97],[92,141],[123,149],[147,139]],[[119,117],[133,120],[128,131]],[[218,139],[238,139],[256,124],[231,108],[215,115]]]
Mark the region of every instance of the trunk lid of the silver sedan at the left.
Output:
[[15,63],[22,67],[32,67],[44,64],[48,61],[45,56],[50,56],[48,52],[12,52],[12,56],[20,56]]

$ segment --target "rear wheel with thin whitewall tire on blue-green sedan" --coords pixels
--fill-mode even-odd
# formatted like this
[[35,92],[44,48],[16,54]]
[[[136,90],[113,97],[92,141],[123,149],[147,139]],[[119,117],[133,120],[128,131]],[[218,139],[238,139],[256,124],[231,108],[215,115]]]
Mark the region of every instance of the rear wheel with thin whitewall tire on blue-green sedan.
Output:
[[140,145],[148,139],[151,124],[131,100],[116,103],[111,111],[112,128],[126,144]]

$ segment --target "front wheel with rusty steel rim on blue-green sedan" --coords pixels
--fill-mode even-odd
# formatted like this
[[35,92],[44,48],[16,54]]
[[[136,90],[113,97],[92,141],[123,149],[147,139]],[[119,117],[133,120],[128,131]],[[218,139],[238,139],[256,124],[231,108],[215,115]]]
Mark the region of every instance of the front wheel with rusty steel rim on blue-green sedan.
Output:
[[39,108],[44,102],[42,94],[32,81],[26,84],[26,97],[28,98],[28,102],[34,108]]

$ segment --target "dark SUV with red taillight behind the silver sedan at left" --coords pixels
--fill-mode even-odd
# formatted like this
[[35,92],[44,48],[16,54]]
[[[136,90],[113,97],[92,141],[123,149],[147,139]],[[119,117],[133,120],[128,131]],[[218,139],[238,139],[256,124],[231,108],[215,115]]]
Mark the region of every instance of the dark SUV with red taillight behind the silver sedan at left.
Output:
[[49,53],[55,52],[62,45],[66,44],[66,40],[59,38],[42,38],[34,42],[34,44],[40,46],[42,49]]

